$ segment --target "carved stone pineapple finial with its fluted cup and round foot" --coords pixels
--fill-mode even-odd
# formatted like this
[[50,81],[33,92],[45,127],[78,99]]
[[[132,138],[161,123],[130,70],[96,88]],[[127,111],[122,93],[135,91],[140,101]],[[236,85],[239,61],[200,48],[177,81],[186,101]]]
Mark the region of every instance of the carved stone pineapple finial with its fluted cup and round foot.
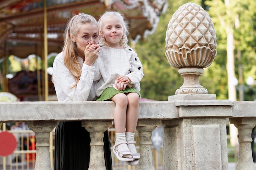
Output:
[[186,3],[173,14],[166,31],[165,55],[171,66],[179,68],[183,85],[175,94],[208,94],[199,83],[203,68],[217,55],[216,31],[209,14],[198,4]]

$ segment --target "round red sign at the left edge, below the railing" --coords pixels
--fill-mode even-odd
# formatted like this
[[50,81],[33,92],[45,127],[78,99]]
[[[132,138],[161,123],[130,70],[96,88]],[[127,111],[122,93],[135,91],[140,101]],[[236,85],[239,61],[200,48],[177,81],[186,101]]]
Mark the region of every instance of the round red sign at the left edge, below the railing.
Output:
[[17,141],[10,132],[0,132],[0,156],[8,156],[16,149]]

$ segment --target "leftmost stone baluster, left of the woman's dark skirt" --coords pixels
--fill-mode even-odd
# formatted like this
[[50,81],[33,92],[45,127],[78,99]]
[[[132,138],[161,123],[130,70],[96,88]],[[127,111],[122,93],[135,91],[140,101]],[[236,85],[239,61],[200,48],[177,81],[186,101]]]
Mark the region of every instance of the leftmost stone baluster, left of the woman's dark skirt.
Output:
[[36,135],[36,165],[35,170],[52,170],[49,138],[50,132],[56,127],[57,121],[29,121],[28,127]]

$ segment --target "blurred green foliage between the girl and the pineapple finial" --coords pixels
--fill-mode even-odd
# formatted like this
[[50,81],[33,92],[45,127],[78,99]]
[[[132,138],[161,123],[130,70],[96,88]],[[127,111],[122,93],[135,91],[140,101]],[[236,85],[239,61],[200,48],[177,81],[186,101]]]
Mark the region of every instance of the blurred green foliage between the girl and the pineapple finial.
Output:
[[[171,2],[171,3],[170,3]],[[169,1],[166,13],[160,17],[156,31],[146,41],[136,43],[135,50],[143,64],[144,78],[141,81],[141,96],[153,100],[167,100],[182,86],[183,78],[172,68],[165,56],[165,38],[169,20],[181,4]]]

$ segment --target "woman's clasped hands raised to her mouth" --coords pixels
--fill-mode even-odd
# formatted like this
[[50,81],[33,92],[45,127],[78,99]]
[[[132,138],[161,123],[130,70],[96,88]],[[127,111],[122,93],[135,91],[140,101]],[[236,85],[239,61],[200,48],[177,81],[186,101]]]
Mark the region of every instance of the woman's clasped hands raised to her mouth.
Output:
[[99,51],[100,51],[100,47],[98,44],[91,44],[89,43],[86,47],[85,47],[85,51],[84,51],[84,55],[85,55],[85,61],[84,63],[92,66],[92,64],[97,60],[97,58],[99,57]]

